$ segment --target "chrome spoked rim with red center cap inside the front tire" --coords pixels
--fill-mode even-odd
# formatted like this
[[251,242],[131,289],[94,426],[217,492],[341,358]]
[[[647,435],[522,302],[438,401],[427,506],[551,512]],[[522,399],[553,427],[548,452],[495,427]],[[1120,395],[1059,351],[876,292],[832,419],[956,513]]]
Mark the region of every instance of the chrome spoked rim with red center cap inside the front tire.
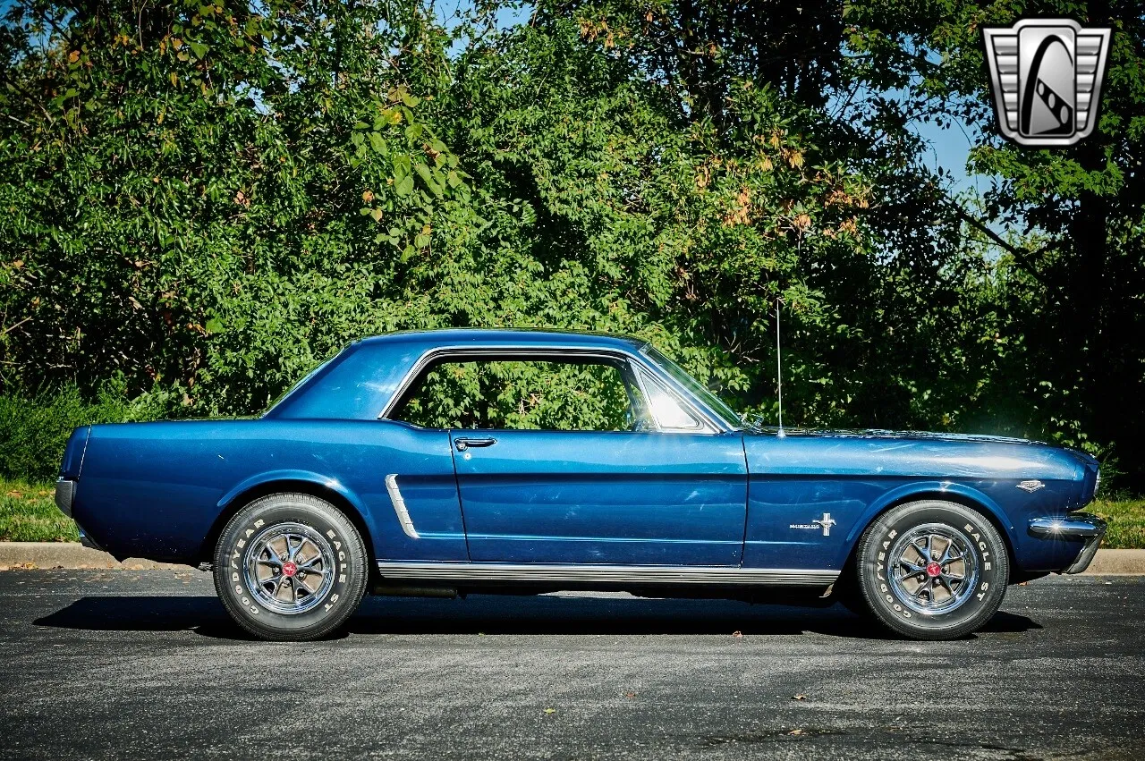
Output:
[[927,523],[900,534],[886,557],[895,596],[924,616],[962,607],[978,582],[973,542],[946,524]]

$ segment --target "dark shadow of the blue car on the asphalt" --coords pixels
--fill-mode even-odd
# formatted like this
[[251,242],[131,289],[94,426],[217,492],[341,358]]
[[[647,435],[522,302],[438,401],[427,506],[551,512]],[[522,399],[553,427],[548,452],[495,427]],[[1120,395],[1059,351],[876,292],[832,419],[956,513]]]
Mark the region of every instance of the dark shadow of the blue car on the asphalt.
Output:
[[[177,632],[251,640],[214,596],[92,596],[38,618],[37,626],[104,632]],[[998,612],[984,633],[1042,628]],[[793,635],[893,639],[846,609],[765,605],[724,600],[473,595],[465,600],[368,597],[338,637],[347,634],[530,635]]]

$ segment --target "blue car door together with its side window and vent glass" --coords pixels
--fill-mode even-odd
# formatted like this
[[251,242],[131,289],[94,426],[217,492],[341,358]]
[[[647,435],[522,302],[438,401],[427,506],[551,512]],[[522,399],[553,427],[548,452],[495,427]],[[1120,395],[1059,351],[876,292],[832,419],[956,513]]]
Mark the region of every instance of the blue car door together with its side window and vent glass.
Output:
[[456,359],[428,371],[437,388],[413,406],[464,423],[450,443],[472,561],[740,564],[739,433],[623,357]]

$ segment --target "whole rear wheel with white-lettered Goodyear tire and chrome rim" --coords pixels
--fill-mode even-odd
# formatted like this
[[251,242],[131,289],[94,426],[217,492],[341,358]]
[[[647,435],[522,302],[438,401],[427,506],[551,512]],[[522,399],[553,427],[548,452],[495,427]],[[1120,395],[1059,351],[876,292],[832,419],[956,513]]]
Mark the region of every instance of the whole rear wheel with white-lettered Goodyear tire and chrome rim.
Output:
[[368,562],[362,537],[333,505],[310,494],[270,494],[223,529],[215,589],[227,612],[255,636],[315,640],[357,610]]

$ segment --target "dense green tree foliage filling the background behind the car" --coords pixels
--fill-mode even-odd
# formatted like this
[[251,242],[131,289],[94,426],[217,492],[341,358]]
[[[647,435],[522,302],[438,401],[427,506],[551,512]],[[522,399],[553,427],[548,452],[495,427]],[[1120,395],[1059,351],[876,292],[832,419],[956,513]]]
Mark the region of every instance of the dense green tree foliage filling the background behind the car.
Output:
[[[1139,9],[1039,11],[1114,51],[1097,133],[1029,151],[979,42],[1010,2],[505,8],[11,3],[3,388],[242,414],[363,334],[545,326],[649,338],[769,418],[779,302],[789,421],[1139,460]],[[980,198],[922,160],[951,117]]]

